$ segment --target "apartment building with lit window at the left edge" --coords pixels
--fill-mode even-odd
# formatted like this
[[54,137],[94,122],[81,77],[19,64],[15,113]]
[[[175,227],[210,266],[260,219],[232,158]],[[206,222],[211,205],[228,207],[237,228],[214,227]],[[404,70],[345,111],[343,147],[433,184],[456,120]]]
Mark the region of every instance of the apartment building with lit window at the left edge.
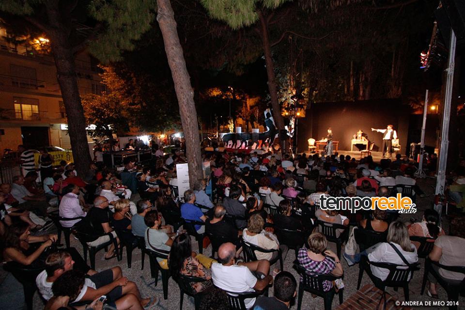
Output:
[[[18,144],[34,149],[48,145],[70,148],[52,56],[37,53],[31,45],[7,43],[5,36],[0,28],[0,150],[16,150]],[[106,91],[97,64],[86,52],[77,55],[81,95]]]

